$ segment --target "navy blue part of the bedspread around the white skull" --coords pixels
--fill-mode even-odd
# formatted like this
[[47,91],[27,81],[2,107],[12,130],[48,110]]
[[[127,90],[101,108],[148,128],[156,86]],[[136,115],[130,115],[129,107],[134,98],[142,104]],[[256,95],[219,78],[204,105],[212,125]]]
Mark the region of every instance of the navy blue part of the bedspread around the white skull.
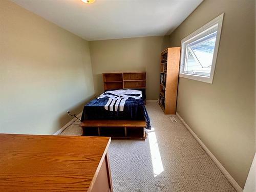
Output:
[[124,109],[119,111],[107,111],[104,106],[109,97],[93,99],[83,107],[81,121],[83,120],[145,120],[147,127],[151,129],[150,117],[148,117],[143,99],[129,98],[125,101]]

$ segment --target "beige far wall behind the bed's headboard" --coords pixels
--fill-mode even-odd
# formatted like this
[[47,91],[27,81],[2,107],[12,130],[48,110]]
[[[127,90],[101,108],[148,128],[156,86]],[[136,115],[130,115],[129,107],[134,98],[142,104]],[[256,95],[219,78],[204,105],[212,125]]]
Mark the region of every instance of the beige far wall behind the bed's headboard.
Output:
[[89,41],[96,94],[103,92],[102,73],[147,72],[147,100],[156,100],[159,92],[160,53],[166,36]]

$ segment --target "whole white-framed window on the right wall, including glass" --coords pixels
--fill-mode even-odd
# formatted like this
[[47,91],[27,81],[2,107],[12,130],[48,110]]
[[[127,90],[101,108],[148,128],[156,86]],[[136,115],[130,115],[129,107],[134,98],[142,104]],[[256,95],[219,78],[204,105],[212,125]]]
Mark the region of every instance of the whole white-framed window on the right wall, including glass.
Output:
[[212,83],[223,15],[181,40],[180,77]]

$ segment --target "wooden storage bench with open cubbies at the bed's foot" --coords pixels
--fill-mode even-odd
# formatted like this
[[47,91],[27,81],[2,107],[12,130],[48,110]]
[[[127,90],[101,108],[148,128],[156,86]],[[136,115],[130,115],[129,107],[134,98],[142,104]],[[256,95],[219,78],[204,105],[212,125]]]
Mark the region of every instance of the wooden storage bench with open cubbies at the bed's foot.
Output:
[[113,139],[145,139],[144,120],[85,120],[83,136],[105,136]]

